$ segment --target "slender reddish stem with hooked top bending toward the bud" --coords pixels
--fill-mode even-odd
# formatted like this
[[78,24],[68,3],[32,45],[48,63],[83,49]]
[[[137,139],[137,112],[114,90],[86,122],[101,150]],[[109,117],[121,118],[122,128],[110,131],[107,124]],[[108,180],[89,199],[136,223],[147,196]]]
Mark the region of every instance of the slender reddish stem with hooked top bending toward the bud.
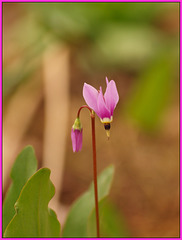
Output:
[[94,111],[88,107],[87,105],[84,105],[79,108],[77,117],[79,118],[80,111],[83,108],[87,108],[90,111],[91,116],[91,125],[92,125],[92,151],[93,151],[93,178],[94,178],[94,193],[95,193],[95,211],[96,211],[96,228],[97,228],[97,237],[100,237],[100,231],[99,231],[99,203],[98,203],[98,188],[97,188],[97,161],[96,161],[96,141],[95,141],[95,113]]

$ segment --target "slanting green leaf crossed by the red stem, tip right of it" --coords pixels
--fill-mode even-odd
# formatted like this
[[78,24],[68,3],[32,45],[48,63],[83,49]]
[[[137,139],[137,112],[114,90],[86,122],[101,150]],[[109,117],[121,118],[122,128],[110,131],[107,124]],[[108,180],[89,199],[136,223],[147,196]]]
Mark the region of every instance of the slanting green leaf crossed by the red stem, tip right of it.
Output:
[[[107,167],[98,177],[98,198],[101,201],[109,194],[114,174],[114,166]],[[87,221],[95,207],[94,185],[84,193],[72,206],[68,215],[63,237],[89,237],[87,235]]]

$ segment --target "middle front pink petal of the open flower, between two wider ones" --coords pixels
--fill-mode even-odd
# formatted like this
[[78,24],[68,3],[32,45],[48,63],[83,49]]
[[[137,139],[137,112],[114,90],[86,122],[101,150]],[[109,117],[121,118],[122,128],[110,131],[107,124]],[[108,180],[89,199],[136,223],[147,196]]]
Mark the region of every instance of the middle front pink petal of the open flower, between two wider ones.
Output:
[[106,103],[104,101],[104,96],[102,93],[102,88],[100,87],[100,92],[99,92],[99,96],[97,99],[97,106],[98,106],[98,112],[97,115],[100,118],[110,118],[111,117],[111,113],[109,111],[109,109],[106,106]]

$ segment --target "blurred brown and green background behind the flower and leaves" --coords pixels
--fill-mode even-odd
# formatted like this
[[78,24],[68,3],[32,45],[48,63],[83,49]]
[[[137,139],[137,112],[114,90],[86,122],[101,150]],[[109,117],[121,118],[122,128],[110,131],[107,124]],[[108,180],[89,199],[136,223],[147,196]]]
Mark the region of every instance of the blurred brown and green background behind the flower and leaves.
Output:
[[111,138],[96,119],[98,172],[131,237],[179,237],[179,3],[3,3],[3,194],[16,155],[35,148],[51,169],[61,224],[92,181],[91,127],[71,126],[83,83],[114,79]]

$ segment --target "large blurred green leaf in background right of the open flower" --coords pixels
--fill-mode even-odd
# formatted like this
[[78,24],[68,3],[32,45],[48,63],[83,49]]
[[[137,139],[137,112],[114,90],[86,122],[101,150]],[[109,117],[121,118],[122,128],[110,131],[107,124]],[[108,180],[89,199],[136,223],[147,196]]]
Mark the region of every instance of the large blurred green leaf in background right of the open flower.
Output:
[[168,50],[159,52],[136,80],[125,112],[144,130],[151,131],[158,127],[173,94],[177,66],[177,51],[169,46]]

